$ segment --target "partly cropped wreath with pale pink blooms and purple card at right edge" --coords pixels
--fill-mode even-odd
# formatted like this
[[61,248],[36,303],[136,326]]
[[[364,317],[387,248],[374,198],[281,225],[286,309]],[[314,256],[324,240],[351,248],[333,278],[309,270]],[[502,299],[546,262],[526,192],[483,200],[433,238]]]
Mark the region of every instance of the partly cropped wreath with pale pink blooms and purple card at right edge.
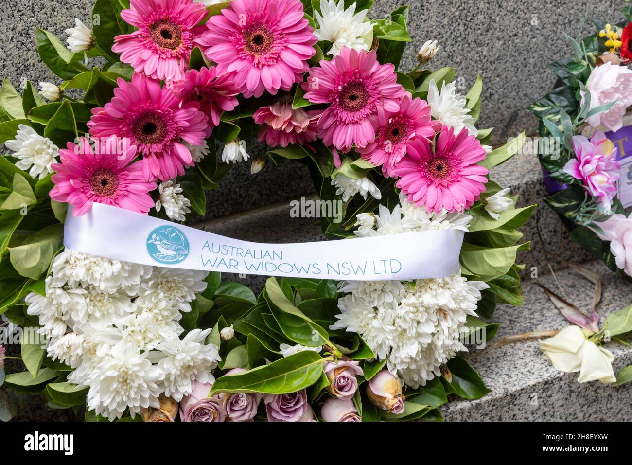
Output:
[[[624,13],[631,20],[629,8]],[[573,56],[550,63],[556,87],[528,108],[540,119],[538,157],[549,194],[545,202],[571,230],[571,240],[616,273],[632,276],[626,233],[629,121],[632,105],[632,23],[568,37]]]

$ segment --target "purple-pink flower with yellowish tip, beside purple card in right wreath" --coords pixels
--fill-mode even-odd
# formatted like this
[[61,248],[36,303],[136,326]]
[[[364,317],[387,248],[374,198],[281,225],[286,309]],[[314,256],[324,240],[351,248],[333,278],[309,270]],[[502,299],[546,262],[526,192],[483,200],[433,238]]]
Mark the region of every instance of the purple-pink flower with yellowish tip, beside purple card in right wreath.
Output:
[[603,132],[595,131],[590,140],[583,135],[573,136],[573,151],[577,158],[569,159],[564,173],[579,179],[600,205],[610,208],[621,169],[614,144]]

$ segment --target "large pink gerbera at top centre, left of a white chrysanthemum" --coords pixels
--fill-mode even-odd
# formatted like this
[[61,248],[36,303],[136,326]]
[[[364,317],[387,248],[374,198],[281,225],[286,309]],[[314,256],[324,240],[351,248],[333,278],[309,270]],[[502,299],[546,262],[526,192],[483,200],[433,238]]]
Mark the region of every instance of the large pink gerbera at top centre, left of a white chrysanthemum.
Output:
[[318,41],[300,0],[233,0],[211,16],[200,40],[218,73],[231,73],[243,96],[290,90],[309,70]]

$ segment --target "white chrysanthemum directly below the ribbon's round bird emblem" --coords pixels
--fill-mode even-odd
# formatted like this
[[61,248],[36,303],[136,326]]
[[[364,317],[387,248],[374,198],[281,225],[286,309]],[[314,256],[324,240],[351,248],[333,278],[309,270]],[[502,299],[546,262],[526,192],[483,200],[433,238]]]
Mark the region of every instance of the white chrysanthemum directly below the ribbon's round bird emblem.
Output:
[[197,270],[178,270],[176,268],[156,268],[149,281],[141,283],[138,289],[138,306],[152,306],[157,302],[167,304],[179,311],[191,311],[191,302],[197,292],[206,288],[204,278],[209,273]]

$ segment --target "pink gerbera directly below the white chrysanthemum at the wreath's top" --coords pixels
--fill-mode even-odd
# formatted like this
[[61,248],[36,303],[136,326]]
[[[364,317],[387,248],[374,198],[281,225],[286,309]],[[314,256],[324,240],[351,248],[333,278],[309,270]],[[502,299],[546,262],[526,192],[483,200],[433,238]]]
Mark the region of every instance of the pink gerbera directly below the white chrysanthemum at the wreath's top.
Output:
[[379,121],[387,120],[386,112],[399,111],[404,96],[394,71],[391,63],[378,63],[375,51],[349,47],[310,70],[303,84],[305,98],[330,104],[318,121],[319,137],[325,146],[346,153],[353,144],[362,149],[375,140]]

